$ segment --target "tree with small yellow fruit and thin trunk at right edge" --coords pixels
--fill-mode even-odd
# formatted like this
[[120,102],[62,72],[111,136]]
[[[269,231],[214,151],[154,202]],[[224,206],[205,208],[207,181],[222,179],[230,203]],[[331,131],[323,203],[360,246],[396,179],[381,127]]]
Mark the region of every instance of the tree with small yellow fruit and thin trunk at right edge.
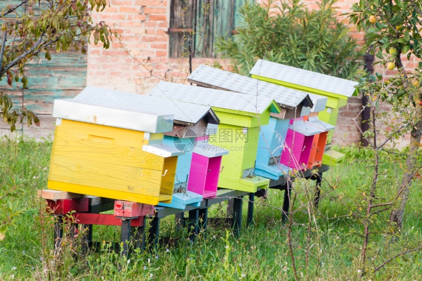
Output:
[[422,63],[416,69],[409,69],[406,61],[422,57],[422,2],[360,0],[352,6],[350,20],[365,32],[367,50],[375,54],[384,69],[396,70],[393,77],[386,77],[385,73],[373,77],[366,83],[366,89],[371,91],[367,93],[371,96],[370,100],[381,99],[391,103],[391,115],[400,116],[400,131],[395,131],[396,136],[391,136],[392,139],[410,132],[403,177],[391,203],[390,221],[401,229],[409,186],[421,168]]

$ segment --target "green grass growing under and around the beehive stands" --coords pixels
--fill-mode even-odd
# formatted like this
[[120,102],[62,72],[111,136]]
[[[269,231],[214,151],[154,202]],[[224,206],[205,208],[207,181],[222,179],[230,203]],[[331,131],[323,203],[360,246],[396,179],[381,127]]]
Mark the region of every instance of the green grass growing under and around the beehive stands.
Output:
[[[195,243],[187,231],[178,230],[173,217],[160,224],[162,236],[178,238],[160,245],[156,252],[136,250],[129,259],[109,251],[107,242],[119,241],[116,227],[95,227],[94,239],[102,243],[99,253],[81,256],[77,243],[65,241],[62,254],[53,252],[53,217],[44,213],[44,202],[36,191],[46,188],[51,142],[5,139],[0,142],[2,175],[29,179],[20,195],[26,211],[16,228],[9,229],[0,242],[0,280],[292,280],[293,263],[288,224],[281,222],[283,192],[270,189],[266,199],[257,199],[254,225],[243,228],[238,238],[232,230],[210,225]],[[359,154],[356,154],[358,157]],[[382,164],[388,177],[381,177],[379,199],[394,195],[395,166]],[[399,169],[397,169],[399,171]],[[346,172],[344,172],[346,171]],[[399,173],[399,172],[398,172]],[[324,173],[319,209],[308,204],[314,181],[293,183],[291,246],[299,279],[357,280],[363,238],[362,213],[365,191],[372,174],[367,161],[350,160]],[[399,176],[398,176],[399,177]],[[0,184],[4,177],[1,177]],[[406,207],[401,237],[395,243],[388,234],[388,212],[374,218],[369,245],[369,271],[365,280],[421,280],[421,252],[394,258],[375,274],[371,268],[407,249],[421,245],[422,199],[420,179],[413,182]],[[246,198],[245,198],[246,200]],[[246,219],[244,204],[243,218]],[[210,214],[222,216],[226,206],[212,207]],[[245,226],[245,221],[243,226]],[[76,241],[77,242],[77,241]]]

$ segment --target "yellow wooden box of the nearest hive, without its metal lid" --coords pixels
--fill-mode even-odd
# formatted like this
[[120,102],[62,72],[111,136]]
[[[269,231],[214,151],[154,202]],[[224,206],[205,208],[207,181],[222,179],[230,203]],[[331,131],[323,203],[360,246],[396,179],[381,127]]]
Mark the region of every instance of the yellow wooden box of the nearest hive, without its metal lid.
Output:
[[[49,188],[80,192],[72,188],[84,186],[82,194],[120,200],[134,196],[145,204],[161,193],[171,195],[175,168],[166,168],[168,176],[162,177],[164,158],[142,151],[146,144],[143,132],[62,120],[54,133]],[[125,194],[130,196],[122,198]]]

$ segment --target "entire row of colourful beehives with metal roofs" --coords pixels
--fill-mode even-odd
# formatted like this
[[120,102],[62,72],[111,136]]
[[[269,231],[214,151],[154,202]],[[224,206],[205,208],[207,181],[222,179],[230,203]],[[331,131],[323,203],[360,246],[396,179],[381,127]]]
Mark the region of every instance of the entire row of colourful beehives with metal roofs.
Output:
[[357,83],[263,60],[251,74],[200,66],[188,80],[202,87],[56,100],[48,187],[184,209],[217,187],[255,192],[335,163],[328,133]]

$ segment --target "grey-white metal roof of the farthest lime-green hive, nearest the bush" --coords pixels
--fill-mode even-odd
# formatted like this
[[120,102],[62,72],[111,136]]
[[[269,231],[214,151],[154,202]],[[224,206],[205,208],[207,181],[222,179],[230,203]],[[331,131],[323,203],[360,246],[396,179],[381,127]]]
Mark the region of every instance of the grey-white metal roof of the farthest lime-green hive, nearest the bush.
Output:
[[259,59],[250,74],[351,97],[358,82]]

